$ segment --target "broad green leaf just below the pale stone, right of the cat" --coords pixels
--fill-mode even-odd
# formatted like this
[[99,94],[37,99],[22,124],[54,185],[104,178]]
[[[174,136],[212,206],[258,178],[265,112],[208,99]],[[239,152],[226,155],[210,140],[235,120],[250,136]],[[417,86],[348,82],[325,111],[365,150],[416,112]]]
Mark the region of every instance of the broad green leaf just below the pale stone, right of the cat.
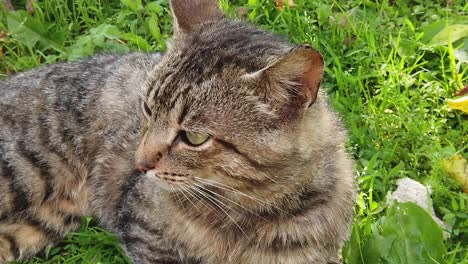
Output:
[[343,249],[348,264],[445,263],[442,229],[414,203],[395,203],[372,225],[371,233],[361,231],[355,224]]

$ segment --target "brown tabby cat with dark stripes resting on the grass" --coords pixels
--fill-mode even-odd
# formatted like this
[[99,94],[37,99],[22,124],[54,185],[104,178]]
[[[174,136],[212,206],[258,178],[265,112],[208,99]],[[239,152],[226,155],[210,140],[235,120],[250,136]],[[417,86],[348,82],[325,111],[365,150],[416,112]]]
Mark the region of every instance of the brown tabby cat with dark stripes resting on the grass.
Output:
[[340,263],[353,219],[322,56],[216,0],[172,0],[168,51],[0,81],[0,263],[93,216],[134,263]]

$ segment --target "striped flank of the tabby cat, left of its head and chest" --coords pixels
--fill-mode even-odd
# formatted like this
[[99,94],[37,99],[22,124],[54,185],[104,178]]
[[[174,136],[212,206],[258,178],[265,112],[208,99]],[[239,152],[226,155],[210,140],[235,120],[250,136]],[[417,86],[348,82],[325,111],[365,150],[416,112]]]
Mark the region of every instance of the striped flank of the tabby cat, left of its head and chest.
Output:
[[0,234],[13,233],[15,257],[56,242],[91,215],[93,177],[119,188],[119,176],[131,174],[146,69],[159,57],[101,55],[0,82]]

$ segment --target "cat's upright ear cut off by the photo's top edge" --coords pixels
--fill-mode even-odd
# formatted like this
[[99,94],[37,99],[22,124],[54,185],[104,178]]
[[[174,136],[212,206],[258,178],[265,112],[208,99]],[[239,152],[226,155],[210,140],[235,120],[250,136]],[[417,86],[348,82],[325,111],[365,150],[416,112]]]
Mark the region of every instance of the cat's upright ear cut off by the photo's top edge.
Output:
[[174,30],[188,33],[200,24],[224,17],[217,0],[171,0]]

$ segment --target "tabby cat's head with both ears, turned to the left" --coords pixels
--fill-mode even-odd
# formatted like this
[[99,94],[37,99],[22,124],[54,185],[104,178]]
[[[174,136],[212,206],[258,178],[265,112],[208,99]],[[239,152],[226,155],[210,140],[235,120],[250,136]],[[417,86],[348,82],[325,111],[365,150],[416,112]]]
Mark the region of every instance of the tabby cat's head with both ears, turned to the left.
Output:
[[174,38],[148,80],[136,165],[166,187],[268,187],[299,171],[299,139],[324,63],[226,18],[215,0],[173,0]]

